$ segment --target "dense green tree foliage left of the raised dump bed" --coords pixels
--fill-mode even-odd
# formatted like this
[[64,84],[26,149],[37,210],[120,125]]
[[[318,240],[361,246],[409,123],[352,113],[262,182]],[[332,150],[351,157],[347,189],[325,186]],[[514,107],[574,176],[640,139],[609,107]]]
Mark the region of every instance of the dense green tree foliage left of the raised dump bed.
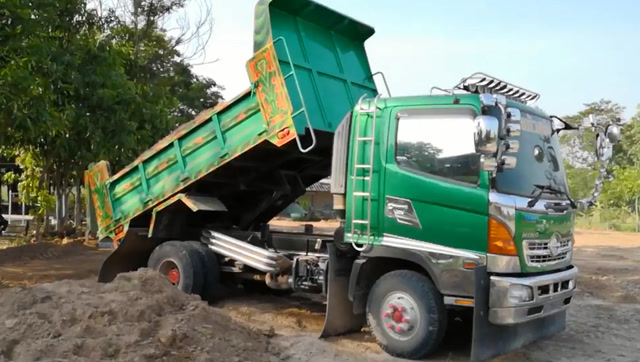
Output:
[[39,214],[89,163],[121,168],[222,99],[160,27],[186,1],[133,3],[131,17],[86,0],[0,0],[0,153]]

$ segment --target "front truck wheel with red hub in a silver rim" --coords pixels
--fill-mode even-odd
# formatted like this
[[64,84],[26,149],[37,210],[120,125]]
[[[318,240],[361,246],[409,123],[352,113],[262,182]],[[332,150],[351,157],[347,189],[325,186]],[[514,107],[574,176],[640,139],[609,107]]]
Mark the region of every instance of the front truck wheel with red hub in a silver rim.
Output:
[[[393,299],[395,296],[400,299]],[[389,298],[393,300],[390,304],[394,308],[383,305]],[[408,306],[410,311],[399,310],[394,303],[405,305],[404,309]],[[394,313],[384,317],[383,313],[389,311]],[[399,320],[408,318],[409,322],[397,322],[396,317]],[[419,324],[411,323],[411,318]],[[440,346],[447,329],[447,310],[442,295],[429,278],[414,271],[396,270],[383,275],[371,288],[367,299],[367,322],[385,352],[399,358],[422,359]],[[396,333],[395,328],[400,328],[400,332]]]

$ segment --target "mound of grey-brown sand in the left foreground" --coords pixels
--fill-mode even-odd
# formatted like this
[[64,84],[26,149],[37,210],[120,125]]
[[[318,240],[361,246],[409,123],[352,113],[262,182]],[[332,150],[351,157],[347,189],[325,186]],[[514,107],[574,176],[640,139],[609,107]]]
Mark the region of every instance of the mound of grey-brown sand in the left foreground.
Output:
[[0,361],[281,361],[259,331],[155,272],[0,291]]

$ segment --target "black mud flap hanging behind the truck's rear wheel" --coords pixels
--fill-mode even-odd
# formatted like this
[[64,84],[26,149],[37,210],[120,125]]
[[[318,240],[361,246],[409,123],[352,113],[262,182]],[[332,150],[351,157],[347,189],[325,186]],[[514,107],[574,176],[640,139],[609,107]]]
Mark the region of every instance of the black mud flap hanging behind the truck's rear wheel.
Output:
[[120,273],[146,267],[149,255],[159,243],[147,235],[148,229],[129,229],[120,245],[102,263],[98,282],[109,283]]

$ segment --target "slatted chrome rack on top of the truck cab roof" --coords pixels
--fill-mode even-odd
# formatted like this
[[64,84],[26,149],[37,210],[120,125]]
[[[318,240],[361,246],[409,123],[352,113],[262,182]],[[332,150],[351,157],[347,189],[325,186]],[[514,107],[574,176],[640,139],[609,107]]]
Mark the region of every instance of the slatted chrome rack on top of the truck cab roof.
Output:
[[481,72],[473,73],[472,75],[463,78],[455,88],[469,93],[500,94],[508,99],[524,104],[533,104],[540,99],[540,95],[538,93]]

